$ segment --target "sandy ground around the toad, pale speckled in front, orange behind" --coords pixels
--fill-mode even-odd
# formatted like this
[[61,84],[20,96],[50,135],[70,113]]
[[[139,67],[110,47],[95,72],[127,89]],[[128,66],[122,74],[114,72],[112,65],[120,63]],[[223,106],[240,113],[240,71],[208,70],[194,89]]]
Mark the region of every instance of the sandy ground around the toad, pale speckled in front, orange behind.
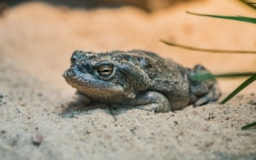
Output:
[[[205,48],[256,49],[255,25],[188,15],[244,15],[236,1],[179,3],[145,13],[138,8],[78,10],[44,3],[8,8],[0,17],[1,159],[256,159],[256,83],[225,105],[188,106],[174,113],[85,106],[62,72],[72,51],[145,49],[186,67],[214,73],[255,71],[256,55],[193,52],[171,40]],[[219,79],[223,97],[241,79]],[[39,144],[40,143],[40,144]]]

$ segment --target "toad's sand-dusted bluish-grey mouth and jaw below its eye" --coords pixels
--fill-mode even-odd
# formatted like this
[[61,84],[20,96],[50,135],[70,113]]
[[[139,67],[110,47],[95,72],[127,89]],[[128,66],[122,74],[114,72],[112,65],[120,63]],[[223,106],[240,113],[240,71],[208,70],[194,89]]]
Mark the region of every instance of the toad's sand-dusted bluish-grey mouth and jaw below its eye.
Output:
[[109,81],[98,79],[88,72],[80,72],[76,67],[70,67],[62,76],[70,86],[77,88],[77,90],[87,92],[95,90],[99,92],[118,92],[123,93],[124,88],[121,85],[113,84]]

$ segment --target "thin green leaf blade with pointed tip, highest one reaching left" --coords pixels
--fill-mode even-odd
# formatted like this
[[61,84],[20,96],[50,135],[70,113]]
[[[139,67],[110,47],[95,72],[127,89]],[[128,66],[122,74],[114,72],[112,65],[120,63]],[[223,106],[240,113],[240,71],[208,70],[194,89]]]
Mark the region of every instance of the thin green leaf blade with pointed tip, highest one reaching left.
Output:
[[223,16],[223,15],[206,15],[206,14],[198,14],[198,13],[193,13],[193,12],[186,12],[191,15],[200,15],[200,16],[207,16],[207,17],[214,17],[214,18],[219,18],[219,19],[231,19],[231,20],[239,20],[243,22],[249,22],[256,24],[256,19],[252,17],[243,17],[243,16]]

